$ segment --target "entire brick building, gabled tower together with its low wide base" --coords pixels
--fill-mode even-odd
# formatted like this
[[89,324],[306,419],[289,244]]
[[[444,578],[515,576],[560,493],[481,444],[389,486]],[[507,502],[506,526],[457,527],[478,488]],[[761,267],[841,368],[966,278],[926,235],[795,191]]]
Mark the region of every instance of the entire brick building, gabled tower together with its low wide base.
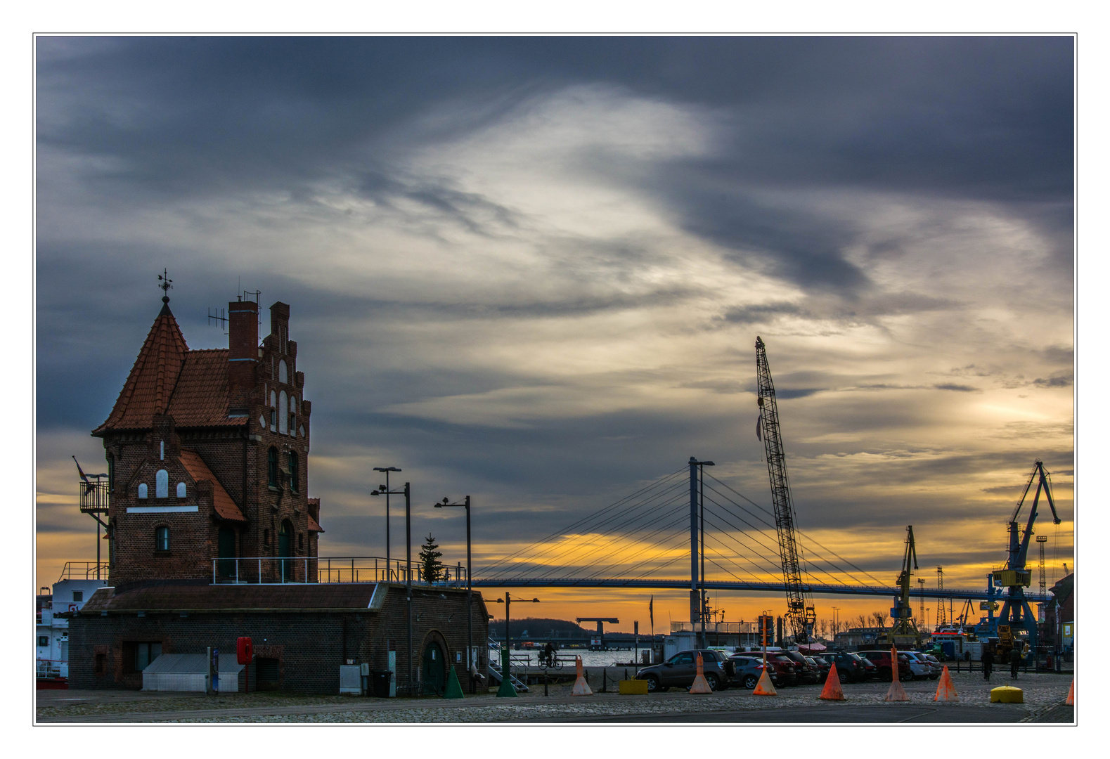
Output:
[[112,587],[72,614],[71,687],[139,688],[159,655],[233,655],[240,636],[254,642],[250,677],[261,688],[336,694],[341,665],[385,669],[391,658],[402,694],[442,691],[451,666],[464,688],[475,685],[465,651],[470,614],[475,671],[485,671],[480,594],[467,608],[457,579],[414,580],[410,600],[396,566],[340,583],[317,555],[312,404],[290,307],[270,306],[260,344],[258,304],[234,301],[229,348],[190,351],[162,301],[111,414],[92,432],[108,459]]

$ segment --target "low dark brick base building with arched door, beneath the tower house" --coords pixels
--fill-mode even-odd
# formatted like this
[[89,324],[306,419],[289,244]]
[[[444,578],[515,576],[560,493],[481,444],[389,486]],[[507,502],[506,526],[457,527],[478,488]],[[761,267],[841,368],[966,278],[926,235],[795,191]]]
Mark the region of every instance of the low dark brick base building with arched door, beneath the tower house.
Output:
[[[410,692],[410,685],[414,694],[434,692],[447,665],[470,690],[466,590],[414,586],[412,593],[410,678],[404,585],[155,585],[119,594],[102,588],[70,620],[70,687],[138,689],[152,654],[204,654],[210,646],[233,654],[236,638],[249,636],[251,679],[262,689],[337,694],[341,665],[385,670],[392,650],[398,694]],[[471,614],[477,670],[484,672],[488,618],[480,594]]]

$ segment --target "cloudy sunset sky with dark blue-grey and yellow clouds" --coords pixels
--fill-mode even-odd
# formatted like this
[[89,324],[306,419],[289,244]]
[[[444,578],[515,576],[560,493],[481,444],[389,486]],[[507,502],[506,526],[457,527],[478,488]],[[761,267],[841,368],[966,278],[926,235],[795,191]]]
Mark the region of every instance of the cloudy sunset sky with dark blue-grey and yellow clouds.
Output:
[[[69,457],[102,467],[89,431],[163,267],[192,348],[226,345],[205,316],[240,289],[291,304],[321,555],[384,554],[374,466],[404,469],[414,543],[433,533],[451,563],[461,509],[431,504],[472,496],[478,571],[581,539],[559,530],[692,455],[770,508],[761,335],[804,547],[894,583],[912,524],[929,585],[942,565],[980,587],[1040,457],[1063,519],[1040,523],[1051,584],[1072,566],[1072,54],[1070,37],[38,38],[37,585],[94,555]],[[734,537],[707,574],[769,578]],[[678,555],[588,540],[568,566]],[[523,593],[647,625],[647,594]],[[656,630],[686,616],[683,591],[655,596]],[[889,606],[818,616],[833,605]]]

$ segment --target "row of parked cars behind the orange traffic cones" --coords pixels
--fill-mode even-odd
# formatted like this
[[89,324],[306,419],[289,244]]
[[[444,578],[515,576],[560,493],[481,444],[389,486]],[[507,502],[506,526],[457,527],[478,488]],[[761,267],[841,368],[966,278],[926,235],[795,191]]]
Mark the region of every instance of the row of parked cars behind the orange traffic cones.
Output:
[[[702,655],[705,679],[713,690],[736,687],[753,690],[764,671],[763,651],[726,654],[715,649],[679,651],[663,664],[645,667],[636,679],[647,680],[648,691],[667,688],[689,688],[697,676],[697,655]],[[799,651],[767,651],[767,670],[775,686],[814,685],[824,682],[836,664],[840,682],[869,679],[889,681],[894,665],[889,650],[825,651],[806,656]],[[944,665],[931,654],[898,652],[899,680],[936,680]]]

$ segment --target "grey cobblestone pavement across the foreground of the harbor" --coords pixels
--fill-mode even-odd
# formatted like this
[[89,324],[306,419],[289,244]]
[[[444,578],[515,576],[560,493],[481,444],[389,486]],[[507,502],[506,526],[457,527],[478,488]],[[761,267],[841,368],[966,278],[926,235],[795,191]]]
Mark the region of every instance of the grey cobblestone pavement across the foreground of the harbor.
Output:
[[[593,681],[594,678],[591,678]],[[1071,711],[1058,709],[1068,695],[1070,676],[1028,675],[1011,681],[1008,677],[995,677],[986,682],[981,675],[967,672],[952,675],[958,707],[934,702],[936,681],[921,680],[904,684],[909,696],[905,706],[928,707],[929,714],[938,715],[936,721],[953,721],[946,716],[946,708],[958,708],[960,719],[955,721],[1071,721]],[[1017,685],[1023,689],[1025,704],[990,704],[990,688],[999,685]],[[595,687],[596,687],[595,682]],[[616,684],[612,684],[615,689]],[[823,701],[817,698],[819,686],[781,688],[774,697],[753,696],[746,690],[729,689],[718,694],[692,696],[679,689],[650,696],[618,696],[595,694],[592,697],[572,697],[568,687],[551,687],[547,697],[543,686],[533,688],[518,699],[498,699],[493,694],[468,696],[461,700],[424,699],[374,699],[340,696],[292,696],[275,694],[250,694],[213,698],[184,696],[141,701],[101,700],[79,701],[68,706],[43,706],[38,710],[40,722],[518,722],[604,720],[638,716],[658,716],[666,721],[680,720],[688,715],[690,721],[709,721],[707,715],[716,714],[712,721],[723,721],[722,712],[729,712],[728,720],[743,722],[744,714],[753,719],[760,710],[807,709],[820,706],[821,714],[841,706],[844,721],[886,721],[884,718],[868,718],[872,714],[884,716],[881,709],[891,705],[884,702],[888,684],[862,682],[844,687],[846,701]],[[215,702],[214,702],[215,701]],[[973,707],[973,708],[972,708]],[[936,710],[936,711],[934,711]],[[783,712],[787,714],[787,712]],[[816,712],[815,712],[816,714]],[[930,721],[925,715],[917,721]],[[966,716],[965,716],[966,715]],[[759,721],[766,721],[770,715]],[[885,716],[884,716],[885,717]],[[789,721],[805,721],[793,715]],[[821,721],[827,721],[823,719]]]

